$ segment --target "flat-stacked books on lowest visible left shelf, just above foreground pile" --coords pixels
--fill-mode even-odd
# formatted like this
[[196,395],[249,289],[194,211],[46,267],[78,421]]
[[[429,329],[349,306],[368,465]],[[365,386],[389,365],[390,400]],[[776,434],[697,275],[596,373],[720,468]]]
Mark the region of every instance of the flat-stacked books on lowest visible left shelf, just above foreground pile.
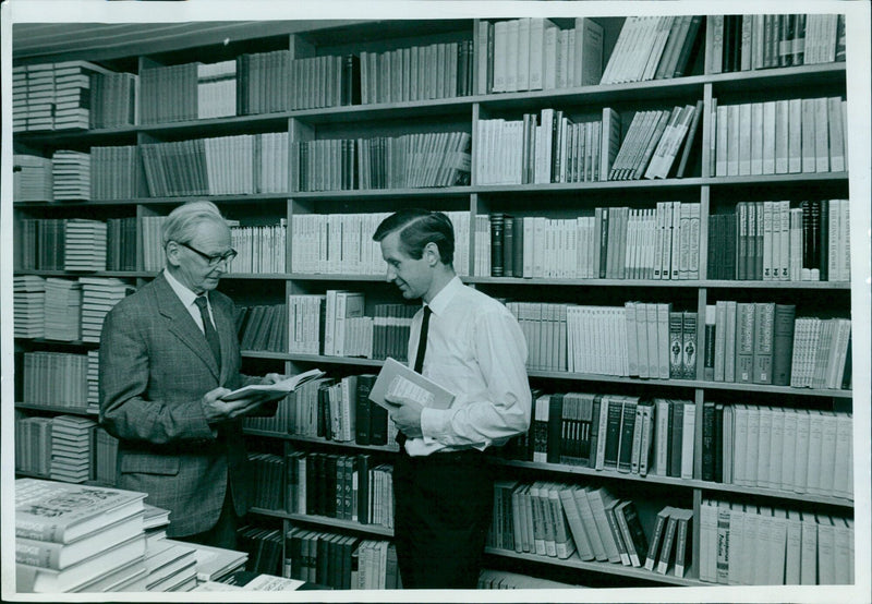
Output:
[[77,482],[95,478],[93,464],[97,422],[78,415],[57,415],[51,422],[51,479]]

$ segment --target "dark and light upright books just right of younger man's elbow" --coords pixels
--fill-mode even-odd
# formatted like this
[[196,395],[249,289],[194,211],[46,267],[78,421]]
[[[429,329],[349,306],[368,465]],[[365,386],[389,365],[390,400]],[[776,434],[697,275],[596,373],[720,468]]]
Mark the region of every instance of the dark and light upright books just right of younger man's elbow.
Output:
[[593,392],[533,395],[530,431],[506,451],[509,457],[693,478],[693,402]]

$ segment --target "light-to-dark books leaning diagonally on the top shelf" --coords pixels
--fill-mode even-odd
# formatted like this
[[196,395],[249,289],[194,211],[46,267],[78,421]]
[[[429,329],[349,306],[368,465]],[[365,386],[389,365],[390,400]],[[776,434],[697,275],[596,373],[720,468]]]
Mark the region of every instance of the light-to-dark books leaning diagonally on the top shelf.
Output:
[[701,15],[629,16],[600,84],[687,75],[702,36]]

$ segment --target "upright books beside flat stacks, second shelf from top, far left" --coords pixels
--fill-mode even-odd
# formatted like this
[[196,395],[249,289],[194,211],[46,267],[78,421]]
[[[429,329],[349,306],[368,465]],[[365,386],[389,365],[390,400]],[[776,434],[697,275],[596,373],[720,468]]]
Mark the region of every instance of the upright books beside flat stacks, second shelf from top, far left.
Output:
[[147,194],[138,146],[90,147],[92,200],[133,200]]

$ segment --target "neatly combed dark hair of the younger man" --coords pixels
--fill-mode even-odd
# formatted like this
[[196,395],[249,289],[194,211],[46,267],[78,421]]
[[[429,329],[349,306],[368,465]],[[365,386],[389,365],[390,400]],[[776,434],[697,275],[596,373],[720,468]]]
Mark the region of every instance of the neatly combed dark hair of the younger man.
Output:
[[378,225],[373,241],[382,241],[397,230],[400,231],[400,246],[409,257],[421,259],[427,243],[435,243],[443,264],[455,262],[455,229],[441,212],[420,208],[396,212]]

